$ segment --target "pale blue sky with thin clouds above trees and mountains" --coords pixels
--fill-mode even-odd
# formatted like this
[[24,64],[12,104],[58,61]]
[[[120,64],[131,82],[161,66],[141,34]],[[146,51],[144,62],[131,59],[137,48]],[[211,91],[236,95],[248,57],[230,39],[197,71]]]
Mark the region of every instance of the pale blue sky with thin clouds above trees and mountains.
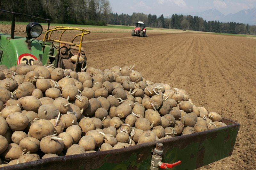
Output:
[[133,12],[164,15],[175,13],[219,10],[224,15],[256,8],[256,0],[109,0],[112,12],[129,14]]

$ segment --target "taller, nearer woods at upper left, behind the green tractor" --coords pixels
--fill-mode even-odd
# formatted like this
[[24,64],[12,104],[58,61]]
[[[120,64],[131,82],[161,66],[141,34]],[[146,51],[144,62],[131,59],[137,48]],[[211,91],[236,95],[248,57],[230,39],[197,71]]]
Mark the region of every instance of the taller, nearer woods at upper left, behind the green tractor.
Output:
[[[112,11],[108,0],[1,0],[1,9],[50,19],[52,23],[107,25]],[[0,12],[1,20],[12,20]],[[19,16],[17,21],[28,21]]]

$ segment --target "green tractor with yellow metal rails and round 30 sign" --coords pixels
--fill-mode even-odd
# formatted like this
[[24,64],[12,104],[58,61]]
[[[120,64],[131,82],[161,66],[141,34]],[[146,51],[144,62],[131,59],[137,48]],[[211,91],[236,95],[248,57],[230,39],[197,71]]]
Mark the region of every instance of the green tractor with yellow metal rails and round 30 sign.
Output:
[[[12,14],[11,34],[0,33],[0,65],[5,65],[10,68],[12,66],[17,66],[20,63],[33,65],[33,61],[39,60],[44,65],[52,64],[55,68],[68,68],[76,72],[85,68],[86,56],[84,48],[82,47],[82,42],[84,35],[90,34],[89,30],[72,27],[55,27],[54,29],[49,30],[49,19],[4,10],[0,10],[0,12]],[[26,16],[31,19],[48,22],[48,28],[43,41],[36,39],[43,32],[43,27],[38,22],[28,23],[26,27],[26,37],[15,36],[16,16]],[[70,41],[63,41],[63,34],[67,30],[76,31],[79,32],[79,34],[75,35]],[[53,39],[52,33],[60,33],[59,39]],[[75,43],[77,37],[80,37],[79,43]],[[71,60],[72,56],[75,56],[76,61]]]

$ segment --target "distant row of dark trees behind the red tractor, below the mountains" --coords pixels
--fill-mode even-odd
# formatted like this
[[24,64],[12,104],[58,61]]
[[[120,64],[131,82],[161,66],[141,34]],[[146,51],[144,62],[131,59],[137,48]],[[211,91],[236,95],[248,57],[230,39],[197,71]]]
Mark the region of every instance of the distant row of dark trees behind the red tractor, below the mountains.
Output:
[[147,27],[194,30],[215,33],[249,34],[256,35],[256,26],[236,22],[206,21],[201,17],[192,15],[173,14],[171,18],[164,18],[163,14],[157,17],[155,14],[132,13],[117,14],[110,13],[108,24],[135,25],[143,21]]

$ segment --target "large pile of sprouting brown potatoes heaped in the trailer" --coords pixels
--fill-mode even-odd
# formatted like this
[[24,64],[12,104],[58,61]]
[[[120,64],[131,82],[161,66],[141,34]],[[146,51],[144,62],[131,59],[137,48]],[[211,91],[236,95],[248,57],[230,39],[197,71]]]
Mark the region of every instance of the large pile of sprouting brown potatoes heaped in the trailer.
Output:
[[106,151],[226,126],[185,90],[130,67],[0,66],[0,167]]

